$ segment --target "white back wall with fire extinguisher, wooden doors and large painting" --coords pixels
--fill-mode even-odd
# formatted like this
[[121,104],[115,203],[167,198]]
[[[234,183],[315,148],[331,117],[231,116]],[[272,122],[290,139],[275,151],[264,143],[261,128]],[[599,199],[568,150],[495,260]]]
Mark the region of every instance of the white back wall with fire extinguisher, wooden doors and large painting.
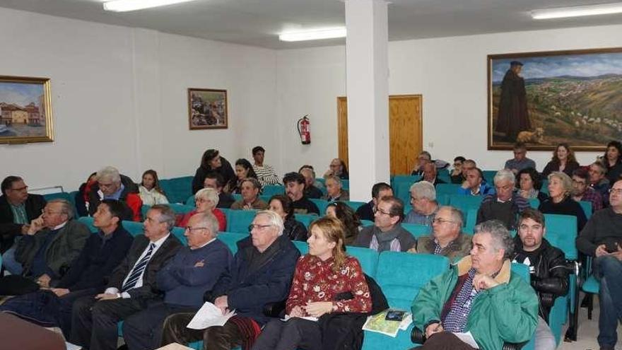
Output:
[[[486,150],[486,55],[561,49],[621,47],[622,25],[497,33],[389,42],[389,94],[423,95],[423,148],[435,158],[474,158],[483,169],[503,166],[510,151]],[[312,144],[300,146],[295,132],[281,139],[284,168],[303,161],[325,170],[337,156],[336,97],[346,95],[344,47],[277,53],[278,115],[286,122],[310,113]],[[295,146],[293,146],[295,145]],[[580,163],[597,153],[580,152]],[[529,152],[541,170],[550,151]]]

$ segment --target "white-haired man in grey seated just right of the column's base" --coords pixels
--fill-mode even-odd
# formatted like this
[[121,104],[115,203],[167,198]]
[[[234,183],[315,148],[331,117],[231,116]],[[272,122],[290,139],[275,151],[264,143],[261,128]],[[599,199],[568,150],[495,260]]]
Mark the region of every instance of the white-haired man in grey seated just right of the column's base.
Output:
[[434,185],[427,181],[415,182],[410,191],[413,209],[409,211],[409,214],[406,214],[404,222],[431,226],[436,211],[438,211]]

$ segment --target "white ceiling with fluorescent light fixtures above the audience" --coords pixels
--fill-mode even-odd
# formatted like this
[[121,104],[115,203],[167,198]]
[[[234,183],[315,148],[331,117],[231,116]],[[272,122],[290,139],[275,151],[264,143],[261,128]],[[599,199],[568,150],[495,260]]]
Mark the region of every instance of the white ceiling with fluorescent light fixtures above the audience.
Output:
[[[392,0],[389,40],[622,24],[620,14],[546,21],[534,21],[529,16],[535,8],[611,1]],[[196,0],[126,13],[104,11],[102,0],[0,0],[0,7],[270,49],[345,42],[337,39],[291,43],[280,42],[277,37],[283,30],[345,25],[344,2],[339,0]]]

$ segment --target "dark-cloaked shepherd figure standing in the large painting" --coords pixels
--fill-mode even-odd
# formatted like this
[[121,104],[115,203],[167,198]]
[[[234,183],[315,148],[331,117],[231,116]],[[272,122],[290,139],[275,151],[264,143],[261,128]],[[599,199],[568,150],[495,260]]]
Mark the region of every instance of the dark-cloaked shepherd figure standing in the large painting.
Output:
[[510,62],[510,69],[507,69],[501,83],[501,97],[495,131],[504,133],[506,141],[510,142],[515,142],[516,136],[520,132],[532,127],[527,111],[527,92],[524,88],[524,79],[519,75],[522,66],[521,62]]

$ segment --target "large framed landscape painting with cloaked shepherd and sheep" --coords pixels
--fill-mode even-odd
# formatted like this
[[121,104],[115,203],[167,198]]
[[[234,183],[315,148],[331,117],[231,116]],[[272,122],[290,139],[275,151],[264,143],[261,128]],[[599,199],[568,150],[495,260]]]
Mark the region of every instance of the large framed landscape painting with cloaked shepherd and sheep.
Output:
[[488,55],[488,149],[622,139],[622,47]]

